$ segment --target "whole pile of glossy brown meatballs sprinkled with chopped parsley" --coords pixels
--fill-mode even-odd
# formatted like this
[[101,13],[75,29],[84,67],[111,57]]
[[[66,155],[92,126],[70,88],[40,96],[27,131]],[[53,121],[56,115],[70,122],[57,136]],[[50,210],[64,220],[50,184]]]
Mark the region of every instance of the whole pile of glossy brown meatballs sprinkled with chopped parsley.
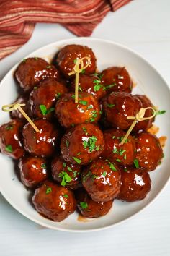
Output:
[[[90,64],[79,74],[75,103],[76,60]],[[86,61],[84,60],[84,65]],[[143,200],[151,189],[149,171],[163,150],[148,132],[154,119],[139,121],[121,144],[140,108],[153,107],[146,95],[132,95],[125,67],[97,72],[91,48],[67,45],[51,64],[39,57],[24,59],[14,73],[22,108],[40,132],[17,110],[0,127],[0,150],[18,161],[21,182],[45,218],[63,221],[76,208],[82,216],[104,216],[113,200]],[[146,117],[152,116],[146,111]]]

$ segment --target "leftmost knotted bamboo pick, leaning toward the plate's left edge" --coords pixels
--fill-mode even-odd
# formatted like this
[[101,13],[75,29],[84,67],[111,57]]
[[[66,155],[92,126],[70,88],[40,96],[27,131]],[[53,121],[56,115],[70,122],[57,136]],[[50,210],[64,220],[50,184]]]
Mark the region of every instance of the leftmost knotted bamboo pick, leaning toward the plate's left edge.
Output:
[[35,126],[33,121],[30,119],[30,117],[27,116],[27,114],[24,112],[24,110],[22,109],[22,106],[25,106],[25,104],[14,103],[14,104],[9,104],[9,105],[4,105],[4,106],[2,106],[1,109],[5,112],[11,112],[13,110],[18,109],[22,113],[22,115],[27,119],[27,121],[29,121],[29,123],[32,125],[32,127],[35,129],[35,131],[40,132],[40,130],[37,129],[37,127]]

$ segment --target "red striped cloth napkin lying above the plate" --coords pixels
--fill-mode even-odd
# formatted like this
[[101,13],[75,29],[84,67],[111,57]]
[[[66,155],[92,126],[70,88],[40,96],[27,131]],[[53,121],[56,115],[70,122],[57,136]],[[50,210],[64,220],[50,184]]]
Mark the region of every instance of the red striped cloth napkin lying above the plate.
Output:
[[30,39],[36,22],[60,23],[78,36],[89,36],[107,12],[130,1],[0,0],[0,59]]

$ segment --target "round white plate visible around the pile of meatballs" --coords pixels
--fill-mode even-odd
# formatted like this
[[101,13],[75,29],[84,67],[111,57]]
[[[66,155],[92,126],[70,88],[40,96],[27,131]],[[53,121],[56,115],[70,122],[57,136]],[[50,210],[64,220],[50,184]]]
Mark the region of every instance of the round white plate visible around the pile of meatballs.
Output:
[[[145,59],[125,46],[95,38],[74,38],[52,43],[34,51],[29,56],[39,56],[50,61],[59,48],[71,43],[91,47],[94,54],[97,56],[97,66],[100,71],[109,66],[125,66],[133,77],[133,81],[137,83],[133,93],[143,94],[143,90],[156,106],[159,106],[160,109],[166,109],[166,114],[156,117],[156,125],[160,127],[158,136],[165,135],[169,137],[170,92],[168,85],[166,85],[164,79],[151,64],[148,64]],[[23,59],[27,57],[28,56]],[[13,77],[16,67],[17,65],[15,65],[1,81],[1,106],[7,103],[12,103],[17,98],[17,90]],[[0,123],[3,124],[6,121],[9,121],[9,115],[1,111]],[[151,192],[145,200],[133,203],[115,200],[113,208],[109,211],[107,216],[90,219],[87,222],[78,221],[77,213],[72,214],[61,223],[53,222],[40,216],[28,201],[30,192],[28,192],[17,179],[12,160],[4,155],[0,155],[0,189],[2,195],[4,195],[6,200],[18,210],[19,213],[22,213],[27,218],[30,218],[30,220],[35,221],[42,226],[62,231],[95,231],[97,229],[106,229],[109,226],[114,226],[117,223],[127,221],[156,199],[169,179],[169,152],[170,144],[169,140],[167,140],[166,147],[164,148],[165,158],[163,163],[156,169],[156,171],[150,173],[152,187]]]

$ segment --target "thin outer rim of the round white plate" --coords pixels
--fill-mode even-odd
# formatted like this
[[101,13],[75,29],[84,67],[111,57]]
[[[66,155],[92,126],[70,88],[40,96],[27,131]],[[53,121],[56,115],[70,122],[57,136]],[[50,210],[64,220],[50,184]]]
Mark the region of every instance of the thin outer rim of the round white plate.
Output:
[[[76,42],[79,42],[79,40],[84,40],[84,45],[86,44],[86,40],[90,40],[90,41],[100,41],[102,43],[110,43],[114,46],[118,46],[120,48],[124,48],[126,51],[129,51],[131,54],[135,54],[135,56],[137,56],[138,58],[142,59],[142,61],[144,61],[146,64],[148,64],[151,69],[154,70],[154,72],[156,72],[158,74],[159,77],[161,77],[161,80],[163,80],[164,84],[166,85],[166,88],[169,90],[169,94],[170,94],[170,88],[169,88],[169,85],[168,85],[168,82],[166,82],[166,79],[162,76],[162,74],[156,69],[156,67],[154,67],[153,64],[151,64],[146,58],[144,58],[142,55],[138,54],[137,51],[134,51],[133,49],[129,48],[128,46],[125,46],[121,43],[117,43],[113,40],[105,40],[105,39],[102,39],[102,38],[90,38],[90,37],[79,37],[79,38],[68,38],[68,39],[63,39],[63,40],[58,40],[58,41],[55,41],[53,43],[48,43],[47,45],[45,46],[42,46],[40,48],[37,48],[35,51],[32,51],[30,54],[27,54],[27,56],[24,56],[23,59],[26,59],[30,56],[32,56],[33,54],[35,54],[37,51],[42,51],[43,49],[45,48],[49,48],[49,47],[53,47],[55,46],[56,43],[58,44],[65,44],[65,43],[69,43],[71,44],[71,40],[73,41],[76,41]],[[22,61],[22,60],[20,60]],[[12,71],[14,69],[16,69],[16,67],[18,66],[18,64],[20,63],[17,62],[17,64],[15,64],[14,66],[12,66],[11,69],[9,69],[8,72],[6,72],[5,76],[3,77],[3,79],[1,80],[0,82],[0,88],[2,86],[2,84],[5,82],[6,80],[6,77],[9,76],[10,73],[12,73]],[[6,199],[7,202],[9,202],[9,204],[12,206],[12,208],[14,208],[15,210],[17,210],[19,213],[22,214],[22,216],[28,218],[29,220],[33,221],[34,223],[38,223],[40,226],[45,226],[46,228],[48,229],[53,229],[53,230],[58,230],[58,231],[65,231],[65,232],[71,232],[71,233],[86,233],[86,232],[93,232],[93,231],[102,231],[102,230],[105,230],[105,229],[109,229],[109,228],[113,228],[114,226],[118,226],[120,224],[123,224],[125,223],[126,221],[132,219],[132,218],[135,218],[136,216],[138,216],[138,214],[142,213],[143,210],[146,210],[146,208],[150,207],[153,202],[155,202],[158,197],[162,194],[162,192],[164,192],[164,189],[166,189],[166,187],[168,186],[169,184],[169,180],[170,180],[170,174],[169,174],[169,178],[166,180],[165,184],[164,184],[164,187],[161,188],[161,190],[158,192],[158,194],[153,197],[153,199],[147,203],[147,205],[145,205],[143,208],[141,208],[140,210],[138,210],[137,213],[134,213],[133,215],[125,218],[124,220],[122,221],[119,221],[117,223],[113,223],[111,225],[107,225],[107,226],[103,226],[103,227],[98,227],[98,228],[94,228],[94,229],[67,229],[67,228],[61,228],[61,227],[57,227],[57,226],[51,226],[50,224],[48,223],[42,223],[41,221],[33,218],[33,217],[30,217],[29,215],[27,215],[27,213],[25,213],[22,209],[18,208],[14,202],[12,202],[12,200],[6,195],[6,192],[4,192],[3,189],[1,189],[0,187],[0,192],[1,192],[1,195],[3,195],[3,197]],[[1,184],[0,184],[1,186]]]

